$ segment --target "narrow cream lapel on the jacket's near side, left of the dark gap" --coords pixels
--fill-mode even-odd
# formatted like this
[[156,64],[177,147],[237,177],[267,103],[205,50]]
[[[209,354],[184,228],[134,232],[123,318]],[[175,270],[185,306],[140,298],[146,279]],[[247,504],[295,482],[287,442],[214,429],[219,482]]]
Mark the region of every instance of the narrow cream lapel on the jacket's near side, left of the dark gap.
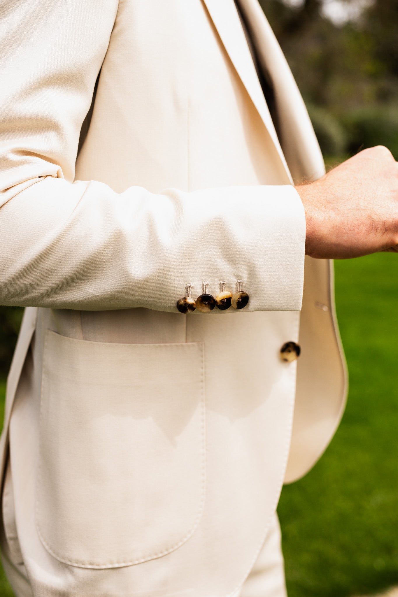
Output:
[[[266,130],[271,137],[273,146],[279,154],[280,161],[285,168],[286,175],[291,181],[288,165],[280,147],[279,140],[271,119],[263,90],[258,80],[254,62],[246,41],[245,32],[240,23],[239,15],[233,0],[203,0],[215,29],[217,29],[221,42],[232,61],[246,91],[251,98],[257,112],[264,122]],[[261,10],[261,9],[260,9]]]

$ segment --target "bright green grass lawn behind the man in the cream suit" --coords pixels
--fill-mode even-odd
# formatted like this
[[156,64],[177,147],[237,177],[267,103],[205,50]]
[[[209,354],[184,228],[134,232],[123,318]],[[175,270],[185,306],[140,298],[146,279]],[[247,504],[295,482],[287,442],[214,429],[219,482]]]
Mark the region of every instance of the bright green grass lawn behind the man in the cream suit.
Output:
[[336,291],[350,395],[325,455],[282,491],[289,597],[398,584],[398,256],[338,261]]

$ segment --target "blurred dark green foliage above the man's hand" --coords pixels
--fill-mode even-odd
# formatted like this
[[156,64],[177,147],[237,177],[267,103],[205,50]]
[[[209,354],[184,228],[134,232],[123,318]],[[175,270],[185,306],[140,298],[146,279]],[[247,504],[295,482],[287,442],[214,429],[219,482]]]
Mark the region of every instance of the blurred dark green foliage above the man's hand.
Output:
[[324,3],[260,0],[321,149],[348,156],[384,144],[398,159],[398,0],[375,0],[342,26],[322,16]]

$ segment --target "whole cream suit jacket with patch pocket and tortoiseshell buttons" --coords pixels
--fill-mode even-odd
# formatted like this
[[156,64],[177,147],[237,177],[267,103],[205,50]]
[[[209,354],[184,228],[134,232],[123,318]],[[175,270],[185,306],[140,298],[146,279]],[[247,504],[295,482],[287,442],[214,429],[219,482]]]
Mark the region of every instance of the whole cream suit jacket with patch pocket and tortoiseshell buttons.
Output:
[[[340,420],[331,264],[304,267],[291,184],[322,156],[240,4],[280,141],[233,0],[0,1],[0,303],[28,307],[3,518],[35,595],[236,595]],[[178,313],[237,279],[245,309]]]

